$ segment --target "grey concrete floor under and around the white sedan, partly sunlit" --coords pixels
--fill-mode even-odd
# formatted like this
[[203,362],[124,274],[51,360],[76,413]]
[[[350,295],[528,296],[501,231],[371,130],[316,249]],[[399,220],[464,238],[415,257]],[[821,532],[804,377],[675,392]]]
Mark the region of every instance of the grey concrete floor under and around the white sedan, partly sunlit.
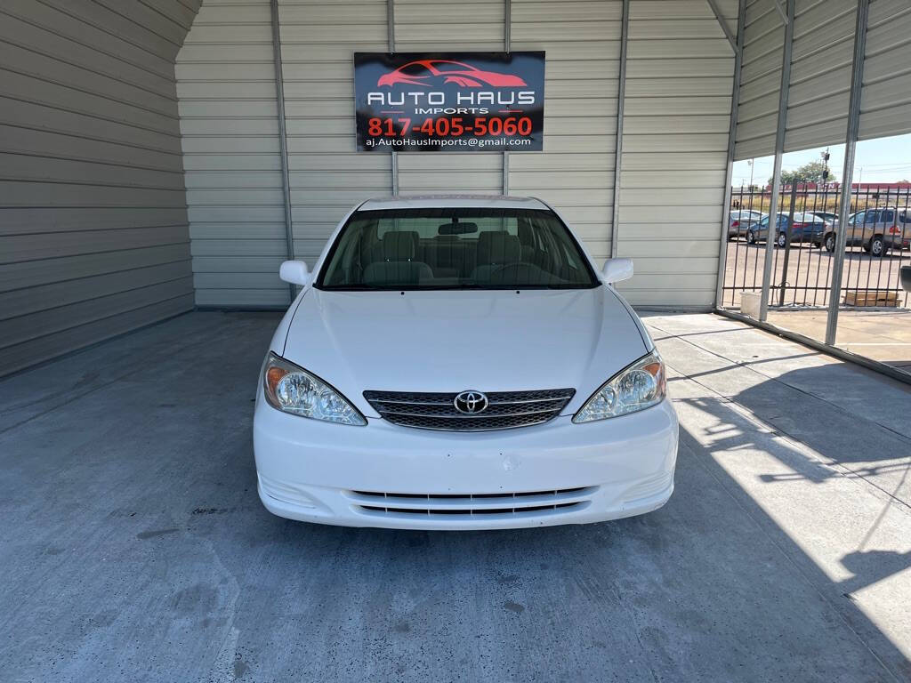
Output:
[[188,314],[0,382],[0,678],[911,680],[908,387],[735,321],[646,320],[677,490],[601,525],[269,515],[270,314]]

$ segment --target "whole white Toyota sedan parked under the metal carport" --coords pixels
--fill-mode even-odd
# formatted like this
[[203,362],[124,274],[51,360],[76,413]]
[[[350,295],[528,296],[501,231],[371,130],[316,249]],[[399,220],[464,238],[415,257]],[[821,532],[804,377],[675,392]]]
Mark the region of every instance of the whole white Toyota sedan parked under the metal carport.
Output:
[[253,443],[275,515],[405,529],[582,524],[673,491],[664,365],[538,199],[370,199],[341,222],[263,363]]

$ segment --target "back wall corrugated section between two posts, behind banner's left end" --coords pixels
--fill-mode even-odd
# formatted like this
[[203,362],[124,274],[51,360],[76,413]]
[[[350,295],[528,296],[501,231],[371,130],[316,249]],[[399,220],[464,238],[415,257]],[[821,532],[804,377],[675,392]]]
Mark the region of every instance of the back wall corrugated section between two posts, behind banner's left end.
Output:
[[392,193],[388,154],[358,154],[354,52],[388,49],[385,0],[281,0],[294,254],[312,266],[353,204]]

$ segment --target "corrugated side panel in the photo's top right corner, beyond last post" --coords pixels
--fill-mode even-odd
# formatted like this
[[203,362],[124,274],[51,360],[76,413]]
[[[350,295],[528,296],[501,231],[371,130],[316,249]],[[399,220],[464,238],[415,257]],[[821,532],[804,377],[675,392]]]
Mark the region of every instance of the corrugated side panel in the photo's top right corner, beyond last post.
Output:
[[911,3],[872,0],[858,138],[911,133]]

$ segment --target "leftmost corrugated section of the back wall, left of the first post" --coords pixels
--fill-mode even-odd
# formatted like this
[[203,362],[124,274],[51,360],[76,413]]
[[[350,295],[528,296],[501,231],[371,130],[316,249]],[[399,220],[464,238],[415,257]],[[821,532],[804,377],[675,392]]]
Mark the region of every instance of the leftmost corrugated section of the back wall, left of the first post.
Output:
[[177,57],[196,302],[289,302],[269,0],[206,0]]

